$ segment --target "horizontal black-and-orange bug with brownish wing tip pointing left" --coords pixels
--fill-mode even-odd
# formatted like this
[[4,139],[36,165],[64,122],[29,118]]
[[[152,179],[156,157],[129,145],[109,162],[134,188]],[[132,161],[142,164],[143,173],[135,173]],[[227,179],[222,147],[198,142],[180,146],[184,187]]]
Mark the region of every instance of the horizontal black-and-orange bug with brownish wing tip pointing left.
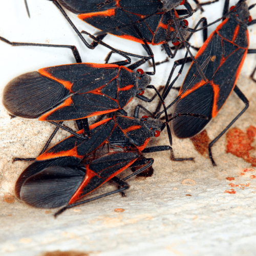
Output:
[[40,121],[77,120],[114,111],[124,114],[122,109],[133,97],[152,100],[142,95],[150,81],[142,69],[95,63],[61,65],[14,78],[5,87],[3,104],[14,116]]

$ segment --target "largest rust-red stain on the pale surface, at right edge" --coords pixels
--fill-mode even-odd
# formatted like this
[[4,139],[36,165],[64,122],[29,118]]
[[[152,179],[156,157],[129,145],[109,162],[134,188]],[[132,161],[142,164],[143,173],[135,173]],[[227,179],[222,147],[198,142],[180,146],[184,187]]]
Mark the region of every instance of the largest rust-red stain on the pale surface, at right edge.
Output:
[[[255,150],[251,145],[256,135],[256,127],[250,126],[246,129],[246,133],[237,127],[230,129],[226,135],[227,153],[243,158],[246,162],[256,166],[256,158],[251,157],[249,151]],[[245,170],[244,170],[245,172]]]

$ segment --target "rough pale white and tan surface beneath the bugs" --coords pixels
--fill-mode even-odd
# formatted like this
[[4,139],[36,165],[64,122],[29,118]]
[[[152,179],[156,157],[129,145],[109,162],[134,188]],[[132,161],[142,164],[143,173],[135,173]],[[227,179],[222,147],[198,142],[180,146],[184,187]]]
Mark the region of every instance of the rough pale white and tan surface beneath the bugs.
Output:
[[[54,41],[54,36],[59,33],[62,36],[62,29],[67,29],[69,26],[52,8],[51,3],[45,2],[47,1],[38,1],[36,5],[29,2],[30,20],[26,17],[23,3],[20,4],[20,9],[14,8],[14,5],[9,3],[9,7],[3,13],[4,17],[8,18],[7,10],[13,10],[16,16],[13,15],[12,18],[15,18],[16,22],[17,19],[25,20],[26,29],[23,30],[21,22],[14,25],[9,18],[8,23],[12,29],[8,30],[2,26],[0,35],[13,41],[26,41],[26,38],[29,38],[30,42],[36,40],[36,42],[45,42],[46,38],[51,38],[50,44],[64,44],[61,40]],[[223,1],[221,2],[223,4]],[[252,3],[253,1],[250,1],[250,4]],[[217,8],[222,8],[221,6],[212,9],[212,13]],[[37,8],[41,8],[39,12],[36,12]],[[57,15],[56,23],[62,22],[66,27],[62,28],[56,23],[50,23],[49,28],[48,24],[44,29],[38,28],[44,38],[40,41],[39,36],[34,37],[35,30],[32,31],[33,33],[31,30],[27,32],[29,31],[27,26],[31,23],[34,23],[33,26],[42,26],[45,15],[48,15],[46,17],[49,19]],[[69,15],[77,24],[80,23],[75,15],[72,16],[70,13]],[[253,18],[256,17],[253,10],[251,15]],[[195,20],[191,20],[191,27],[195,25],[198,17],[200,13],[194,18]],[[212,20],[215,18],[216,16]],[[81,30],[82,26],[79,29]],[[66,36],[65,33],[63,32],[63,35]],[[67,35],[68,33],[71,36],[67,37],[75,37],[72,30],[69,30]],[[253,38],[250,48],[256,49],[255,26],[250,33]],[[46,35],[47,37],[44,37]],[[195,44],[200,46],[201,42],[198,38],[196,37]],[[82,46],[76,37],[75,39],[75,42],[69,41],[65,44],[78,45],[80,50]],[[111,39],[108,42],[111,44]],[[46,51],[36,47],[12,48],[2,42],[0,44],[0,51],[4,56],[0,63],[1,69],[4,69],[1,91],[5,84],[17,75],[74,61],[71,55],[55,54],[54,49]],[[125,41],[123,44],[126,44]],[[165,54],[158,48],[153,50],[159,53],[157,61],[165,58]],[[85,53],[82,56],[89,61],[87,56],[89,50],[83,48],[83,51]],[[50,58],[51,54],[55,54],[54,59]],[[96,57],[90,61],[102,62],[104,59],[98,58],[99,60]],[[246,58],[242,75],[237,83],[250,101],[249,109],[232,126],[243,131],[246,131],[250,125],[256,126],[256,87],[255,83],[248,79],[255,66],[255,59],[254,55]],[[170,66],[172,62],[161,66],[152,83],[157,86],[164,84]],[[174,94],[175,92],[173,97]],[[152,104],[151,108],[154,107],[155,105]],[[232,93],[219,115],[207,126],[210,139],[214,139],[243,107],[241,100]],[[216,167],[195,150],[189,139],[173,138],[176,157],[194,157],[195,162],[172,162],[168,152],[147,154],[150,155],[148,157],[155,159],[154,174],[152,177],[131,179],[129,181],[131,187],[126,191],[127,197],[122,198],[119,194],[115,194],[67,210],[54,219],[55,210],[35,209],[15,198],[15,182],[29,163],[12,163],[14,157],[36,157],[54,127],[35,120],[11,119],[3,105],[0,107],[0,120],[1,255],[255,255],[256,168],[242,158],[226,153],[225,135],[212,149],[218,165]],[[73,125],[72,122],[66,124]],[[52,145],[66,136],[67,133],[59,132]],[[149,145],[167,144],[167,133],[163,131],[160,137],[153,139]],[[255,142],[252,146],[255,146]],[[250,155],[256,157],[254,149],[250,151]],[[127,174],[130,174],[130,170],[125,170],[120,177]],[[107,183],[93,195],[113,188],[115,186],[112,183]],[[66,254],[61,254],[64,251]]]

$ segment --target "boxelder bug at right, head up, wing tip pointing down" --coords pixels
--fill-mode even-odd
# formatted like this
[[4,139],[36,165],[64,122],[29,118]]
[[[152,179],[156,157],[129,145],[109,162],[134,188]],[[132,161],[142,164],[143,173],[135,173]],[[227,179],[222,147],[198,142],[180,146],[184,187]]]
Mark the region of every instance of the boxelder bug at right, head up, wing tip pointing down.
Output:
[[[228,5],[229,1],[225,0],[224,14],[228,13]],[[202,120],[182,116],[172,122],[174,134],[178,138],[189,138],[200,133],[210,119],[216,117],[232,91],[245,103],[245,108],[209,144],[209,158],[213,165],[216,164],[211,155],[212,145],[214,145],[249,106],[247,98],[236,86],[236,82],[246,54],[256,53],[255,49],[248,49],[249,35],[247,30],[248,26],[256,23],[256,20],[252,20],[249,15],[249,10],[254,6],[255,4],[248,8],[244,0],[240,0],[237,6],[230,8],[230,14],[225,15],[226,18],[211,33],[196,55],[198,63],[202,63],[209,55],[212,56],[205,71],[207,82],[197,77],[175,106],[174,115],[180,112],[195,112],[209,117],[208,120]],[[184,88],[187,88],[187,83],[195,73],[195,70],[196,66],[193,62],[179,95],[181,95]]]

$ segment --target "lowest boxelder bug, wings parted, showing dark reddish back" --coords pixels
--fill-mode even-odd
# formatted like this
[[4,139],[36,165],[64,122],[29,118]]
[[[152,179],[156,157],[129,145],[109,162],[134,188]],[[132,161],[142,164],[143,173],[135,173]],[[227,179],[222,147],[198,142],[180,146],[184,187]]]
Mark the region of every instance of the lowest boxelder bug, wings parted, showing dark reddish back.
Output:
[[[157,90],[156,93],[159,95]],[[161,98],[160,95],[159,97]],[[90,140],[70,136],[51,147],[20,175],[15,187],[17,197],[39,208],[66,205],[56,212],[56,217],[67,208],[129,188],[124,181],[153,164],[152,158],[138,160],[141,153],[170,151],[171,157],[174,157],[172,147],[167,145],[146,148],[151,137],[158,137],[166,126],[171,142],[168,122],[180,115],[194,115],[183,113],[168,120],[164,102],[162,103],[165,109],[165,122],[147,116],[139,120],[140,106],[137,106],[134,118],[114,116],[91,125]],[[207,118],[202,115],[195,116]],[[78,133],[83,133],[83,130]],[[140,165],[145,166],[123,180],[115,177],[127,167]],[[76,202],[110,179],[122,188]]]

